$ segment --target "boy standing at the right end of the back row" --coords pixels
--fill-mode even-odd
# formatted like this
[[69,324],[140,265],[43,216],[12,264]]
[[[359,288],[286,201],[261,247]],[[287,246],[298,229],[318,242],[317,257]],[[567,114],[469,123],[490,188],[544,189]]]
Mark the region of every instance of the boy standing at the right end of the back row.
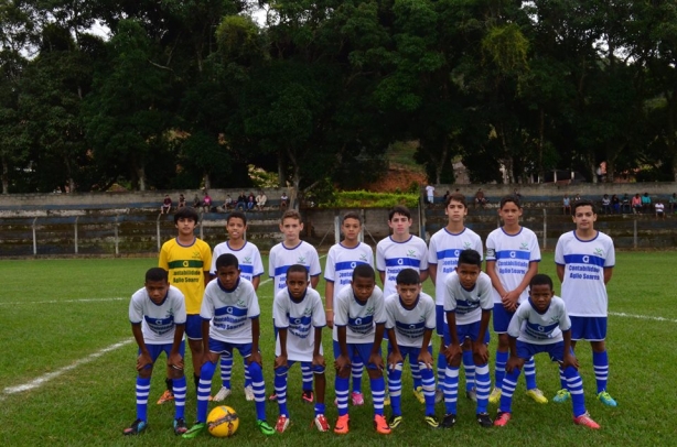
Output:
[[[576,230],[563,233],[557,241],[555,263],[557,276],[562,282],[562,299],[571,318],[571,347],[576,349],[577,341],[582,339],[590,341],[598,399],[604,405],[616,406],[616,401],[606,391],[609,356],[605,344],[606,284],[616,259],[611,238],[594,229],[597,217],[592,201],[573,204]],[[570,395],[561,369],[560,380],[562,389],[557,392],[555,402],[565,402]]]

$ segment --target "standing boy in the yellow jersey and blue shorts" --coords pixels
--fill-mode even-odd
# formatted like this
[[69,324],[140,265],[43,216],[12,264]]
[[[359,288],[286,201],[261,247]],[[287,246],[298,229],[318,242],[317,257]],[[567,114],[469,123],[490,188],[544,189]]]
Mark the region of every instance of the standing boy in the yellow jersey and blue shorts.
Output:
[[[202,330],[200,320],[200,307],[205,285],[209,282],[209,266],[212,265],[212,249],[209,246],[195,237],[193,231],[200,220],[195,209],[185,207],[174,214],[176,238],[162,244],[158,265],[169,272],[169,282],[179,288],[185,297],[185,335],[191,348],[193,359],[193,381],[195,389],[200,382],[200,369],[202,367]],[[172,392],[172,379],[168,368],[166,391],[158,404],[163,404],[174,399]]]

